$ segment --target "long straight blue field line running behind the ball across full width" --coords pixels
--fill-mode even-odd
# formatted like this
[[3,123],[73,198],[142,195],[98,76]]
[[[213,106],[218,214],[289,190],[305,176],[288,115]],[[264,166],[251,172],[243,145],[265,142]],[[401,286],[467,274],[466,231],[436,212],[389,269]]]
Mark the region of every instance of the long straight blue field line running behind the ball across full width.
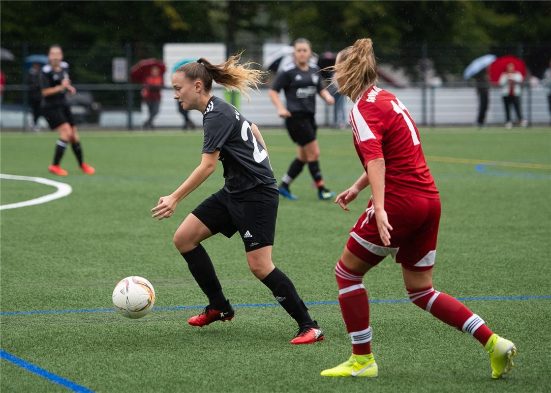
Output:
[[[458,301],[490,301],[490,300],[528,300],[528,299],[551,299],[551,295],[543,296],[486,296],[486,297],[458,297]],[[409,299],[380,299],[370,300],[369,303],[406,303]],[[327,305],[339,304],[339,302],[307,302],[306,305]],[[233,307],[272,307],[279,303],[257,303],[257,304],[232,304]],[[154,310],[190,310],[202,309],[204,305],[177,305],[175,307],[154,307]],[[46,310],[46,311],[18,311],[0,313],[1,316],[8,315],[30,315],[30,314],[70,314],[70,313],[102,313],[115,312],[114,308],[90,308],[79,310]]]

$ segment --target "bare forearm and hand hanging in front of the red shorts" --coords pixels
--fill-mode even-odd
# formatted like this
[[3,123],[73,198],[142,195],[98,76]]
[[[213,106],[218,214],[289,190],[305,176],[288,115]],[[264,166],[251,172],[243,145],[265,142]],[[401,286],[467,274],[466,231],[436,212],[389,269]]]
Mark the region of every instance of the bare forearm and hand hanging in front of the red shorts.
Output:
[[368,177],[373,194],[373,205],[375,206],[375,220],[379,228],[379,236],[384,245],[390,245],[390,232],[392,226],[388,223],[388,216],[385,211],[385,159],[382,157],[368,162]]

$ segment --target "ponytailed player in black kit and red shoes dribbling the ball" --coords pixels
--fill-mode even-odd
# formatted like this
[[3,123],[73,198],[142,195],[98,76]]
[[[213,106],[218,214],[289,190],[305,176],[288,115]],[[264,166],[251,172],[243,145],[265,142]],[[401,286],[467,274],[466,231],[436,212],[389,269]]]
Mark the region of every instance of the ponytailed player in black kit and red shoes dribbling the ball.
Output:
[[310,318],[293,282],[272,263],[279,196],[262,135],[234,106],[210,95],[213,80],[247,97],[247,90],[260,83],[263,72],[248,68],[250,63],[239,64],[239,59],[240,55],[233,56],[215,66],[201,58],[177,68],[172,75],[174,99],[183,109],[204,115],[203,151],[201,164],[174,193],[159,199],[152,209],[153,217],[170,217],[176,205],[214,172],[218,160],[222,161],[224,188],[197,206],[174,234],[176,248],[209,299],[203,312],[188,323],[205,326],[234,317],[201,242],[219,232],[226,237],[239,232],[252,273],[299,324],[291,343],[320,341],[323,332]]

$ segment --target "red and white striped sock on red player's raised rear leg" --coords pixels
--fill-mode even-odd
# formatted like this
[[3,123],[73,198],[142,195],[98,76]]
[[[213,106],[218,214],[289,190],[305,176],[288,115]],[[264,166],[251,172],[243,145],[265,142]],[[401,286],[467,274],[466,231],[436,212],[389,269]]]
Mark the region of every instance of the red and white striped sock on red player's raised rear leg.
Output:
[[469,332],[482,345],[486,345],[493,332],[484,320],[447,293],[435,291],[433,287],[422,290],[407,290],[410,301],[433,314],[442,322],[457,330]]

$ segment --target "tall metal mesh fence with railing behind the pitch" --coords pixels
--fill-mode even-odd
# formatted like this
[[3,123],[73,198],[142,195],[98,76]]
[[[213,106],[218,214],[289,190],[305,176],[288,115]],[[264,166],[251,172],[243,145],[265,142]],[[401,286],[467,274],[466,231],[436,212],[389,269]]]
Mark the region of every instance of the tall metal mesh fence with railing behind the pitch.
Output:
[[[312,41],[314,51],[338,51],[349,43]],[[245,48],[247,59],[262,63],[260,41],[237,42],[234,47]],[[124,58],[129,66],[148,57],[163,57],[164,43],[138,42],[121,44],[84,45],[72,43],[64,47],[65,59],[71,65],[69,74],[78,95],[73,97],[72,112],[77,121],[87,127],[99,128],[139,128],[143,117],[147,116],[141,102],[141,85],[114,83],[112,62],[114,58]],[[6,91],[0,112],[2,129],[30,129],[32,121],[28,88],[28,75],[23,68],[23,58],[29,54],[46,53],[48,47],[32,43],[2,43],[12,51],[16,59],[3,61],[1,68],[6,75]],[[514,54],[521,57],[531,70],[531,75],[541,78],[545,67],[549,67],[551,43],[514,43],[509,45],[444,45],[439,43],[415,43],[401,47],[375,47],[377,63],[386,69],[398,70],[405,79],[398,88],[383,83],[382,88],[392,91],[409,108],[420,125],[473,124],[478,111],[478,97],[473,81],[463,81],[463,69],[473,58],[484,53],[497,56]],[[192,57],[182,54],[182,57]],[[383,69],[383,68],[381,68]],[[269,83],[269,80],[268,80]],[[216,90],[215,94],[224,95]],[[527,78],[522,92],[522,110],[531,124],[549,124],[547,91],[538,85],[534,78]],[[259,96],[252,96],[251,103],[241,103],[241,109],[250,112],[247,116],[262,125],[281,125],[276,110],[269,102],[266,89]],[[191,113],[200,123],[200,114]],[[197,117],[198,116],[198,117]],[[490,91],[488,123],[504,123],[504,110],[499,89]],[[333,108],[318,102],[317,121],[322,125],[332,125]],[[44,119],[41,125],[45,126]],[[169,88],[163,91],[161,111],[155,123],[159,127],[178,127],[181,124],[176,104],[172,102]]]

